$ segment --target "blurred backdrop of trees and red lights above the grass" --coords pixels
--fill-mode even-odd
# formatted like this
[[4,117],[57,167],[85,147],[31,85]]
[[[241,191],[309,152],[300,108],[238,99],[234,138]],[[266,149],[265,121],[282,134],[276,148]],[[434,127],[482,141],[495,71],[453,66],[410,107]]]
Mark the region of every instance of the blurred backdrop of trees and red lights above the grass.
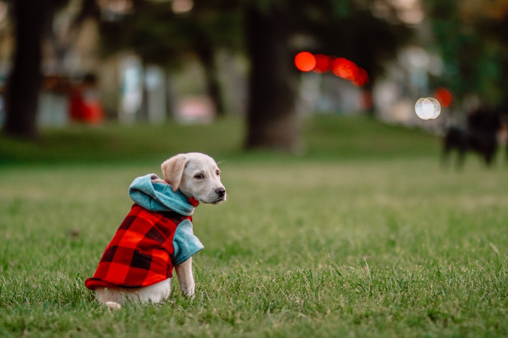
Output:
[[315,114],[443,133],[505,110],[507,55],[508,0],[0,0],[0,125],[235,117],[291,152]]

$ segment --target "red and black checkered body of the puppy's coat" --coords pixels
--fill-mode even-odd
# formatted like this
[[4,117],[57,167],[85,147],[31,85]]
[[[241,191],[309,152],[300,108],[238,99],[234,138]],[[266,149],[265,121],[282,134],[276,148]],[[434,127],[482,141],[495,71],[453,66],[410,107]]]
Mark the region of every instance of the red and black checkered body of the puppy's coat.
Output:
[[173,236],[184,219],[192,221],[191,216],[152,212],[134,204],[85,286],[139,288],[171,278]]

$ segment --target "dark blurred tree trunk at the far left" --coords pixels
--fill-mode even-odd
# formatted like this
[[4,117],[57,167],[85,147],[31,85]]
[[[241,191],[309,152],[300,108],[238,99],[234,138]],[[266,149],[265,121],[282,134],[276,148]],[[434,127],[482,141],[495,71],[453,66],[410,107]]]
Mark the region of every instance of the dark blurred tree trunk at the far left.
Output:
[[37,136],[37,107],[42,84],[42,36],[45,6],[41,0],[16,0],[13,68],[6,88],[4,132],[21,138]]

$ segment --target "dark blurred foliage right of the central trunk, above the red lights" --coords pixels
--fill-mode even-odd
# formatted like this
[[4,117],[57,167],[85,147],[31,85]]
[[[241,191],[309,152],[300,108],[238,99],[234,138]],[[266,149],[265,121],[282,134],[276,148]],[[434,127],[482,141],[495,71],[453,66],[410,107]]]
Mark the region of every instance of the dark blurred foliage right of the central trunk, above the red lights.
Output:
[[297,31],[315,39],[310,51],[353,60],[375,81],[412,36],[402,22],[374,16],[354,1],[302,2]]

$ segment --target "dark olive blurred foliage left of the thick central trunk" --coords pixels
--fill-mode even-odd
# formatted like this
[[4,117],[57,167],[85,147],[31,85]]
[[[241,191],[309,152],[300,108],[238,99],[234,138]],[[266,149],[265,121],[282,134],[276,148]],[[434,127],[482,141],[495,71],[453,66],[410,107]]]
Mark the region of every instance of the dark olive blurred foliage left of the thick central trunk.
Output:
[[131,14],[102,21],[101,34],[106,54],[132,49],[146,63],[175,67],[190,54],[203,59],[215,48],[240,48],[238,27],[238,9],[220,3],[197,2],[193,10],[176,14],[168,2],[135,0]]

